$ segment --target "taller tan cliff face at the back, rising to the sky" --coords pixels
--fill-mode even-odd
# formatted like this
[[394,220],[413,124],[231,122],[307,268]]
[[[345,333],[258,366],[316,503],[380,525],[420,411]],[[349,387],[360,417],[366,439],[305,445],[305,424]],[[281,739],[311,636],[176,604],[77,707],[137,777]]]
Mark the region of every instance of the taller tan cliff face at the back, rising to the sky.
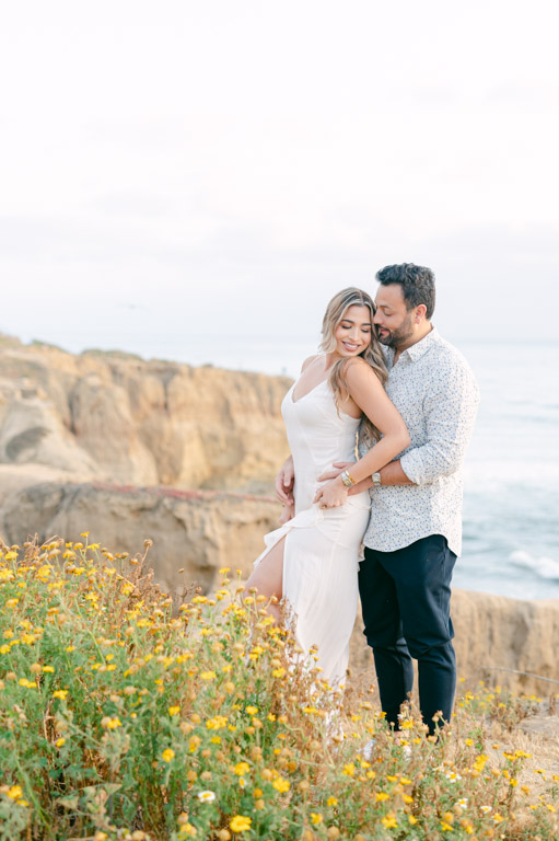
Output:
[[280,404],[289,382],[0,338],[0,464],[135,485],[269,491],[287,454]]

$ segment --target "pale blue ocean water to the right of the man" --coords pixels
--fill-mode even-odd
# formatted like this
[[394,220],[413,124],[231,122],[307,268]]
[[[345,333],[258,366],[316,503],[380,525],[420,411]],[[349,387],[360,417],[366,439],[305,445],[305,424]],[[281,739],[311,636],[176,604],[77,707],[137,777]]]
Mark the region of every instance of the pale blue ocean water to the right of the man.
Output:
[[454,586],[559,598],[559,344],[459,345],[481,403]]

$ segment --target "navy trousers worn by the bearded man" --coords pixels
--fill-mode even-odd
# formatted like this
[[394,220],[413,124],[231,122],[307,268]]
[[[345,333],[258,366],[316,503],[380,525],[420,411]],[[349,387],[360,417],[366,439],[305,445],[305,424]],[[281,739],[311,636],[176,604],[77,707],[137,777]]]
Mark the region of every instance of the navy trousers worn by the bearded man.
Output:
[[414,686],[418,661],[419,705],[433,733],[433,716],[452,715],[456,658],[452,638],[451,579],[456,555],[446,538],[431,534],[396,552],[365,548],[359,569],[364,635],[373,649],[381,704],[398,726],[400,705]]

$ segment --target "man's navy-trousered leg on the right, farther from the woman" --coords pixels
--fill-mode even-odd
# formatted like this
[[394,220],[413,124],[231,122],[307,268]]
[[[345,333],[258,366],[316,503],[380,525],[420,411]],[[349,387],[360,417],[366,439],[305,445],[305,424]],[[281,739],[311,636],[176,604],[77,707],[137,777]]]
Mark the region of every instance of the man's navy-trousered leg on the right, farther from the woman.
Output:
[[[401,611],[404,637],[418,661],[419,705],[429,731],[433,716],[452,715],[456,658],[450,614],[451,579],[456,555],[446,539],[432,534],[394,553],[392,572]],[[440,722],[442,724],[443,722]]]

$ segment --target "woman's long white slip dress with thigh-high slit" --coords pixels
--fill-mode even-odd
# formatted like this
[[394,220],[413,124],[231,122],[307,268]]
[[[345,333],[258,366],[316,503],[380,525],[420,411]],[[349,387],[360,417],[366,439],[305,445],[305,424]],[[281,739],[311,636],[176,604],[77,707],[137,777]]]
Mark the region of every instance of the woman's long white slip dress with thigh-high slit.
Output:
[[[318,476],[335,461],[354,461],[359,419],[338,413],[324,380],[293,401],[295,383],[281,413],[294,464],[295,516],[266,534],[258,564],[286,538],[283,600],[303,652],[317,649],[319,680],[333,689],[343,686],[349,640],[358,608],[358,566],[369,515],[369,492],[348,497],[345,505],[323,509],[313,503]],[[314,663],[313,663],[314,665]]]

